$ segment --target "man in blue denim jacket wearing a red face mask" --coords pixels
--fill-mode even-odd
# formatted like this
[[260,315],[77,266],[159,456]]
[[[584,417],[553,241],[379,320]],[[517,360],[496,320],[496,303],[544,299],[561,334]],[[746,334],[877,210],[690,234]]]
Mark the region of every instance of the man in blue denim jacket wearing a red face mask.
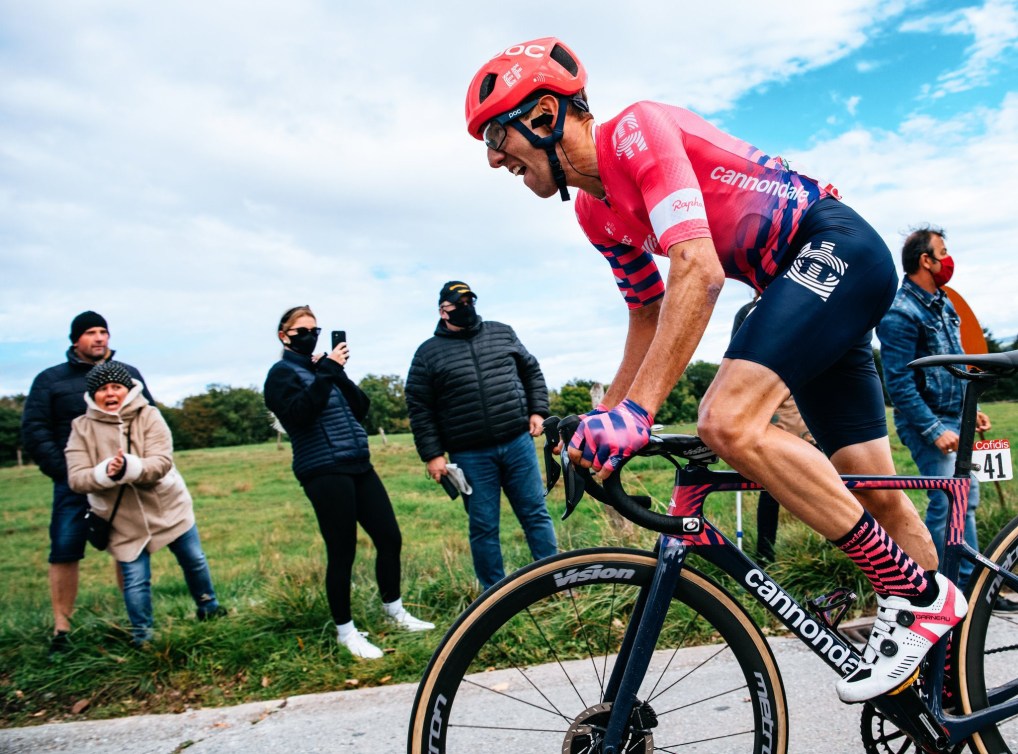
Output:
[[[961,321],[947,294],[941,290],[954,272],[954,260],[944,244],[941,228],[924,226],[905,239],[901,264],[905,273],[894,303],[876,328],[884,362],[884,380],[894,404],[898,437],[912,453],[919,473],[953,476],[961,423],[963,383],[947,369],[910,369],[908,362],[920,356],[962,353]],[[976,429],[989,428],[989,419],[977,414]],[[931,489],[926,526],[944,558],[948,521],[948,498]],[[972,478],[965,515],[965,541],[978,550],[975,508],[979,483]],[[962,561],[959,585],[964,586],[972,564]]]

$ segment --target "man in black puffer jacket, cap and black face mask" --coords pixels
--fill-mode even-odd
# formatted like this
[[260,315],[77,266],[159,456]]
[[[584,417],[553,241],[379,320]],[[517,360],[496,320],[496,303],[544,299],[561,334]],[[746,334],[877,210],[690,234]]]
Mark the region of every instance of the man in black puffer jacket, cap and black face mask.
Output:
[[538,360],[508,325],[482,322],[476,295],[460,281],[439,294],[435,336],[413,355],[406,379],[410,428],[420,460],[438,481],[449,461],[463,471],[473,570],[484,589],[505,576],[499,542],[505,489],[534,560],[558,552],[545,506],[532,437],[548,416]]

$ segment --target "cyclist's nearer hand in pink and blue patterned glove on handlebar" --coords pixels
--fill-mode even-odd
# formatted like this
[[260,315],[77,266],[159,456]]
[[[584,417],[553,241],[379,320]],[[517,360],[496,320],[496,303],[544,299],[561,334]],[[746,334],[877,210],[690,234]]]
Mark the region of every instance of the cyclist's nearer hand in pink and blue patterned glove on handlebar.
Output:
[[626,399],[611,411],[588,414],[569,443],[569,459],[592,468],[600,480],[651,440],[654,417],[635,401]]

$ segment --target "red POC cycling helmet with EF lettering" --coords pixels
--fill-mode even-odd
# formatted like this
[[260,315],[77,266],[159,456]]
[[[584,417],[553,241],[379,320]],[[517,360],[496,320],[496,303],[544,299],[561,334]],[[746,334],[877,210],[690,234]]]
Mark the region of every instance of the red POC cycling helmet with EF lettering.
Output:
[[466,91],[466,129],[482,138],[485,124],[535,92],[575,95],[586,85],[586,69],[555,37],[523,42],[485,63]]

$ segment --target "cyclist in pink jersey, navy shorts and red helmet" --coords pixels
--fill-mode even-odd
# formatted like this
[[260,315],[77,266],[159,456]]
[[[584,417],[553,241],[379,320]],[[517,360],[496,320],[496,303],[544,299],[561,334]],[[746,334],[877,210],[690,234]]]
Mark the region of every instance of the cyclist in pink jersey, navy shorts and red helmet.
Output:
[[[872,583],[876,620],[864,662],[838,682],[841,699],[907,685],[966,604],[934,570],[936,549],[903,494],[869,492],[863,507],[838,477],[894,473],[870,347],[897,289],[887,245],[833,186],[687,110],[638,102],[597,123],[585,84],[576,55],[545,38],[485,63],[466,97],[467,129],[492,168],[541,197],[578,189],[580,227],[629,306],[622,363],[582,417],[570,458],[604,479],[641,448],[725,279],[760,291],[703,397],[697,431]],[[667,286],[655,254],[670,260]],[[790,393],[823,452],[771,424]]]

